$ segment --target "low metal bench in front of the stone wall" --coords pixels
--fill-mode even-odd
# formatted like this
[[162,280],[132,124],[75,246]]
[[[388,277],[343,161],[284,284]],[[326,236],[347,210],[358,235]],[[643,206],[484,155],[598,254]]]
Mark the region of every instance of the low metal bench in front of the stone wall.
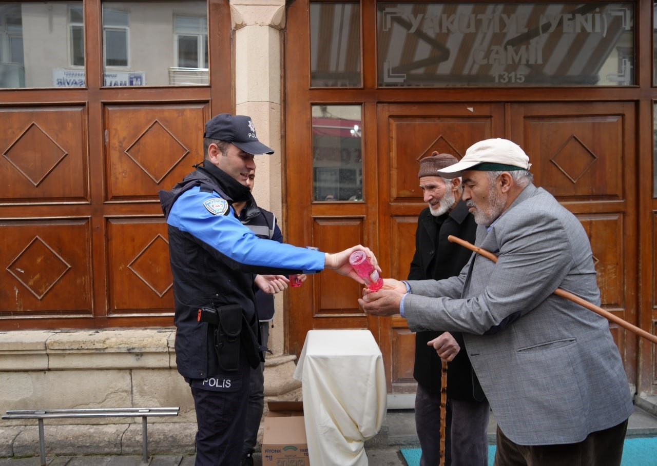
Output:
[[148,461],[148,416],[177,416],[180,408],[81,408],[63,410],[9,410],[3,419],[37,419],[39,421],[39,450],[41,465],[45,466],[45,439],[43,438],[43,419],[84,418],[84,417],[141,417],[142,461]]

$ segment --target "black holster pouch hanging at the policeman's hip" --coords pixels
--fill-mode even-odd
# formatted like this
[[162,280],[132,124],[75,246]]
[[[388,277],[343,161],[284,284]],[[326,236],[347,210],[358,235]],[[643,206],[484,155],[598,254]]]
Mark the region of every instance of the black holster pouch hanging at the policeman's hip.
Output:
[[214,346],[219,366],[225,371],[237,371],[240,366],[242,339],[242,307],[228,305],[217,307],[217,326],[214,331]]

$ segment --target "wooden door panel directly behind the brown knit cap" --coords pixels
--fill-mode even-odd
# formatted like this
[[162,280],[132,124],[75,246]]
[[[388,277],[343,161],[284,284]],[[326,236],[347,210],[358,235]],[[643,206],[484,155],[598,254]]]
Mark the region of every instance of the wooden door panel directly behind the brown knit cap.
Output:
[[[464,108],[464,106],[461,106]],[[409,109],[411,112],[413,109]],[[390,196],[393,201],[422,198],[417,178],[420,159],[434,150],[461,159],[466,149],[481,138],[491,137],[491,116],[470,112],[444,116],[436,108],[429,116],[390,116]],[[449,112],[449,111],[448,111]]]

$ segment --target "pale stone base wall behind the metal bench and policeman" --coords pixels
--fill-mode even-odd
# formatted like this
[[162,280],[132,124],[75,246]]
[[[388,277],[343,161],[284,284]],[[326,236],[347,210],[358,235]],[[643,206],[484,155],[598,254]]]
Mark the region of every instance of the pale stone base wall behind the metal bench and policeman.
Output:
[[[153,453],[193,453],[196,416],[175,366],[175,330],[0,332],[0,411],[178,406],[148,418]],[[265,400],[300,400],[295,356],[265,363]],[[265,412],[266,414],[266,412]],[[141,418],[47,419],[49,455],[141,452]],[[38,455],[35,420],[0,421],[0,456]]]

